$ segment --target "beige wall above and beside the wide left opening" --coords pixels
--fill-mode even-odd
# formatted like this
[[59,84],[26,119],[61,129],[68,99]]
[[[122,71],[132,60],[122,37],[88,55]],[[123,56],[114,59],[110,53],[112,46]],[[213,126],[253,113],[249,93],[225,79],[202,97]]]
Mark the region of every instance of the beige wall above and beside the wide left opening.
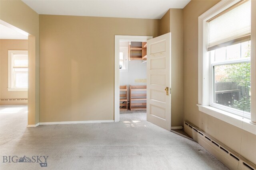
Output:
[[39,15],[20,0],[0,1],[0,20],[29,33],[28,124],[39,122]]

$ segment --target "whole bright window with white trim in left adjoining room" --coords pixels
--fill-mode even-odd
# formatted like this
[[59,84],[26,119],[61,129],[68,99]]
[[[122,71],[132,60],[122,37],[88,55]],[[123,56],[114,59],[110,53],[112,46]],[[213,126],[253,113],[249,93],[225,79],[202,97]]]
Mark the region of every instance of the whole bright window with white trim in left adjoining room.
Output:
[[8,51],[8,91],[28,90],[28,51]]

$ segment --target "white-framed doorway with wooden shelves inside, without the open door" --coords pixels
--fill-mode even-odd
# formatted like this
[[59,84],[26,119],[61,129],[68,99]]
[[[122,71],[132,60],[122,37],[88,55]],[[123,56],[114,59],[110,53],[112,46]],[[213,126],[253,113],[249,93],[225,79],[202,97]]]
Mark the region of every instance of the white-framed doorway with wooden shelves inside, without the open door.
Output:
[[114,121],[146,120],[146,41],[151,36],[115,36]]

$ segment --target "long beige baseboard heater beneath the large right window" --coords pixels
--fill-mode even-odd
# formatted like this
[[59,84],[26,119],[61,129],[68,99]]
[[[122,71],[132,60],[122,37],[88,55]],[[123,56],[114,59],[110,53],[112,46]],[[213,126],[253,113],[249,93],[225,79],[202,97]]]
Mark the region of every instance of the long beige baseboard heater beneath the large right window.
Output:
[[204,133],[189,121],[184,121],[184,130],[197,143],[208,150],[231,170],[256,170],[255,164],[248,161],[246,158],[239,156],[238,153],[226,147],[210,135]]

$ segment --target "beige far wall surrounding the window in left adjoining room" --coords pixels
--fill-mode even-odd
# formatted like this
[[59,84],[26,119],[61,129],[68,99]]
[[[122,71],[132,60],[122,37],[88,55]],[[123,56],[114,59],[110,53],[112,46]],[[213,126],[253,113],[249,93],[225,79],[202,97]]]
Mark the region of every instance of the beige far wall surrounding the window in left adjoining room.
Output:
[[[28,91],[8,91],[8,50],[28,50],[28,40],[1,39],[0,40],[0,93],[1,99],[28,98]],[[1,101],[6,104],[27,104],[27,100]]]

